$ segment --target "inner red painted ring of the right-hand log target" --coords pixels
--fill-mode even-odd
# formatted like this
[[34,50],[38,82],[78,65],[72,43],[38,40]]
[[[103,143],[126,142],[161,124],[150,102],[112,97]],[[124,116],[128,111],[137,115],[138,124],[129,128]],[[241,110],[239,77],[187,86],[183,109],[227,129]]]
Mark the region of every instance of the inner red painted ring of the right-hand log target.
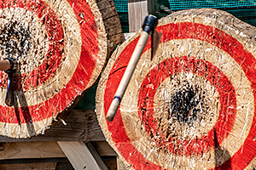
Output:
[[[179,155],[200,155],[202,152],[208,150],[208,147],[218,147],[218,145],[214,143],[215,139],[213,138],[213,129],[217,131],[218,144],[221,144],[229,135],[236,119],[235,89],[233,88],[229,79],[225,77],[224,73],[219,71],[215,65],[212,65],[207,61],[195,59],[193,57],[190,57],[189,59],[187,57],[183,57],[183,59],[171,58],[161,62],[160,65],[155,66],[151,71],[148,72],[148,75],[150,76],[147,76],[148,78],[144,79],[141,85],[141,87],[144,88],[140,88],[139,92],[138,114],[148,132],[148,135],[150,133],[156,135],[158,132],[158,127],[156,124],[157,120],[154,118],[154,95],[156,92],[154,89],[157,89],[160,86],[160,83],[163,82],[166,77],[170,77],[170,75],[174,75],[182,71],[192,72],[201,77],[206,77],[207,81],[211,82],[212,86],[217,89],[218,93],[220,94],[219,100],[221,105],[218,122],[207,133],[207,135],[204,135],[201,139],[197,138],[183,140],[183,142],[180,143],[183,146],[182,150],[174,150],[172,142],[170,143],[172,139],[166,141],[164,136],[160,137],[161,140],[156,141],[156,143],[160,144],[160,146],[170,143],[168,145],[170,151],[172,153],[177,151],[177,154]],[[152,84],[154,88],[147,86],[148,84]],[[148,126],[146,126],[146,124]],[[224,130],[222,129],[223,127],[225,127]],[[199,147],[193,147],[195,143],[197,143]]]

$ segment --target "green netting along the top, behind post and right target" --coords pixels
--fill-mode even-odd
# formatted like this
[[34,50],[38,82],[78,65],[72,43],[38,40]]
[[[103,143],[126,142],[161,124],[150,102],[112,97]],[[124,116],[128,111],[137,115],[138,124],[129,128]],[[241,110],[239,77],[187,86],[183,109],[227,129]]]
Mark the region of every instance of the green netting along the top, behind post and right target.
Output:
[[[161,17],[173,11],[188,8],[219,8],[235,15],[253,26],[256,26],[256,0],[154,0],[155,15]],[[127,0],[113,0],[119,14],[123,32],[129,31]]]

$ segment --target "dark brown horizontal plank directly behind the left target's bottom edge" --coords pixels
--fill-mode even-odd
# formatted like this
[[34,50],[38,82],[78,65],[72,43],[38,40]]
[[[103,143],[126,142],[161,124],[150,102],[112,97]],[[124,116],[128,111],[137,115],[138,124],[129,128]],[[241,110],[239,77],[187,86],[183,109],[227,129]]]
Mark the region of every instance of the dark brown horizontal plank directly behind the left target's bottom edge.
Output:
[[30,139],[11,139],[0,136],[1,142],[44,142],[44,141],[105,141],[94,110],[71,111],[62,123]]

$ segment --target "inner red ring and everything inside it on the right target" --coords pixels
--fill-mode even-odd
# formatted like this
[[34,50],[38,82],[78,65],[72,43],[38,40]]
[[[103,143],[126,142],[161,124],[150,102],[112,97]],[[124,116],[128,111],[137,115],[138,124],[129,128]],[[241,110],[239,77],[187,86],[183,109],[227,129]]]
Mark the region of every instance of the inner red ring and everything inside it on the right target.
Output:
[[[172,90],[166,91],[167,87]],[[161,62],[148,72],[138,96],[138,116],[148,139],[167,152],[193,155],[217,147],[213,129],[218,132],[229,124],[218,132],[221,144],[236,119],[235,89],[218,67],[202,59],[176,57]],[[206,147],[202,150],[194,144]]]

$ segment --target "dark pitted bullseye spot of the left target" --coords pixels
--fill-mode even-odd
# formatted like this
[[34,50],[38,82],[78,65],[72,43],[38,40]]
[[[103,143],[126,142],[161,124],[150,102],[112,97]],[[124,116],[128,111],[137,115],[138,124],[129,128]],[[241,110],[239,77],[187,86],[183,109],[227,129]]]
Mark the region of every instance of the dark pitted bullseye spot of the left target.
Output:
[[30,31],[16,22],[10,22],[0,33],[0,49],[7,57],[24,57],[30,49]]

